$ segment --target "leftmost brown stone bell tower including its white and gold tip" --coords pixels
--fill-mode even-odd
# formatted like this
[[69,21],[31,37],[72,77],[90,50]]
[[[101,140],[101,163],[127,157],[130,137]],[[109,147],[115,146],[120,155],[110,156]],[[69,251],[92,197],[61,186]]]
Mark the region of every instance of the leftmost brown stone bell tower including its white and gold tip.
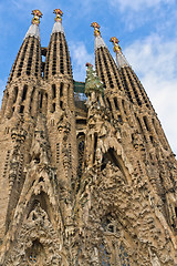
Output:
[[12,65],[1,108],[0,132],[3,152],[0,168],[3,174],[0,176],[0,193],[3,197],[0,201],[2,204],[0,237],[3,237],[9,227],[22,190],[23,168],[29,161],[31,134],[35,121],[33,117],[38,111],[38,90],[41,81],[39,23],[42,13],[33,10],[32,14],[32,24]]

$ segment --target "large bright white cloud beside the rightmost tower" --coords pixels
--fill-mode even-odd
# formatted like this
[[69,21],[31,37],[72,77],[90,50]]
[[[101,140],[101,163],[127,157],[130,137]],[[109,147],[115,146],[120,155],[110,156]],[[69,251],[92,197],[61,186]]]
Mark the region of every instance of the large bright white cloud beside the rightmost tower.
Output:
[[176,42],[177,40],[168,41],[152,34],[125,49],[125,54],[140,76],[175,153],[177,153]]

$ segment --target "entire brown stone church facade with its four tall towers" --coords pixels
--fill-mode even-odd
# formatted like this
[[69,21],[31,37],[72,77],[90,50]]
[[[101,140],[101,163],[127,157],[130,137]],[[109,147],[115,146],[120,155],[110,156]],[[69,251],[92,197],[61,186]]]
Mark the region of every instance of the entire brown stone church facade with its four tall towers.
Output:
[[0,265],[177,265],[175,154],[118,40],[114,61],[93,22],[76,82],[62,11],[48,48],[32,13],[0,113]]

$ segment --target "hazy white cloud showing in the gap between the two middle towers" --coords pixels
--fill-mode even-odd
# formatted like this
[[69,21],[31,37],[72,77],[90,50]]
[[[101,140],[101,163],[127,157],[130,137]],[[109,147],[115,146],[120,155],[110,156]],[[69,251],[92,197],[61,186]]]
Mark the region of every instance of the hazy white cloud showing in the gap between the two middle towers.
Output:
[[83,42],[70,42],[71,59],[73,65],[73,75],[76,81],[84,81],[86,74],[86,62],[94,64],[94,54],[87,52]]

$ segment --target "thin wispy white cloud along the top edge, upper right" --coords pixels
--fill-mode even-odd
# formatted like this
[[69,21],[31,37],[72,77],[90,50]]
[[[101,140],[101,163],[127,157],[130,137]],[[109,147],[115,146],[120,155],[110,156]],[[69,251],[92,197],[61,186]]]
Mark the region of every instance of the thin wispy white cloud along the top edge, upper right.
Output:
[[132,9],[133,11],[139,11],[146,8],[155,8],[162,3],[174,3],[175,0],[111,0],[111,4],[119,7],[121,11]]

